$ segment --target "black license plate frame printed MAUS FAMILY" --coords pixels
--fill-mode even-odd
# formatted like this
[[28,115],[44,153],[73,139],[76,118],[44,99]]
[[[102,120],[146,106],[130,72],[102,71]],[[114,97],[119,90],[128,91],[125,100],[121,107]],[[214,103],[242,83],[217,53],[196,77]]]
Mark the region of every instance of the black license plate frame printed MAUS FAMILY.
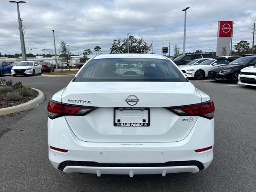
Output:
[[[146,122],[116,122],[116,110],[147,110],[148,111],[148,123]],[[116,127],[148,127],[150,126],[150,108],[148,107],[115,107],[114,108],[114,126]],[[124,124],[124,125],[123,125]]]

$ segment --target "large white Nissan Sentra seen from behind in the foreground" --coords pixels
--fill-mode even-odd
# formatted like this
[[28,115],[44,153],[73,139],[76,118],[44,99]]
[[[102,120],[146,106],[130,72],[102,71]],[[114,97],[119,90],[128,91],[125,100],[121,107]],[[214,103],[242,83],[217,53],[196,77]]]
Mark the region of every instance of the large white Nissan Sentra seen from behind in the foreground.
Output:
[[49,159],[66,173],[165,176],[213,159],[214,103],[164,56],[95,56],[47,109]]

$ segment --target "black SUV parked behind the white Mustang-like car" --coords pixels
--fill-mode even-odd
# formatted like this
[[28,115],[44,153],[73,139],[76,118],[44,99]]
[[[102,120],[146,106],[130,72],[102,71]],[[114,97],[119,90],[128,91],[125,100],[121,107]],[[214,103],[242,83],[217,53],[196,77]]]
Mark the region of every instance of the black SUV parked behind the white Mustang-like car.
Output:
[[213,56],[207,53],[180,55],[177,58],[175,58],[173,62],[176,65],[184,65],[194,59],[200,59],[200,58],[213,58]]

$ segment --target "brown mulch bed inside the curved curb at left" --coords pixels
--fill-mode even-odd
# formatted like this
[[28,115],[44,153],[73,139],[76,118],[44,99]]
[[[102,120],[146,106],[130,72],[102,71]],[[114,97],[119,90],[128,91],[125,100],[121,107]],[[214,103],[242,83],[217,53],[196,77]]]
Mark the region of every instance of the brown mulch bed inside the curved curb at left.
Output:
[[30,100],[32,100],[32,99],[34,99],[38,96],[38,92],[33,89],[33,95],[32,96],[22,97],[22,99],[19,100],[19,101],[8,101],[8,100],[6,100],[6,94],[7,93],[1,93],[0,92],[0,98],[1,98],[0,99],[0,109],[20,105],[22,103],[26,103],[26,102],[28,102],[28,101],[30,101]]

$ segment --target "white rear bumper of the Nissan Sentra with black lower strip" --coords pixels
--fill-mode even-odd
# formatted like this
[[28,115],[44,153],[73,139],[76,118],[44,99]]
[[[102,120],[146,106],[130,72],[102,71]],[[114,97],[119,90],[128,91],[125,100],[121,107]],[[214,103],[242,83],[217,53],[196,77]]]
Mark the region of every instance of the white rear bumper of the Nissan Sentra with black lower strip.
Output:
[[[190,134],[179,142],[84,142],[66,123],[65,117],[54,119],[62,126],[53,127],[48,119],[48,152],[54,168],[66,173],[101,174],[162,174],[198,172],[208,168],[213,148],[196,153],[194,150],[214,145],[214,119],[198,117]],[[65,123],[64,123],[65,122]],[[50,146],[66,149],[53,150]]]

